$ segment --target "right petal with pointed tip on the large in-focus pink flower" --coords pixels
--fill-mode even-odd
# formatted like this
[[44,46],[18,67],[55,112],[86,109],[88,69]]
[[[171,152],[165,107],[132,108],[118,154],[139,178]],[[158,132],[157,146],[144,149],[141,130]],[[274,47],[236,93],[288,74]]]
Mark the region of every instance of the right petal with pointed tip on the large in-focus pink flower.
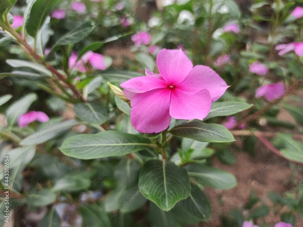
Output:
[[193,67],[188,76],[176,86],[187,92],[207,89],[211,95],[212,102],[220,98],[228,88],[225,81],[215,71],[204,65]]

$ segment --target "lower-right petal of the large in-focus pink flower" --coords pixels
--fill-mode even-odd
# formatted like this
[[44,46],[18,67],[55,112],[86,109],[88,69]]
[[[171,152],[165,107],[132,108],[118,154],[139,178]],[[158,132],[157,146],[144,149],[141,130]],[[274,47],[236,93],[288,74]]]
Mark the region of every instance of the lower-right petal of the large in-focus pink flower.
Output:
[[171,90],[169,114],[175,119],[203,120],[211,108],[211,96],[208,90],[202,89],[188,93],[175,88]]

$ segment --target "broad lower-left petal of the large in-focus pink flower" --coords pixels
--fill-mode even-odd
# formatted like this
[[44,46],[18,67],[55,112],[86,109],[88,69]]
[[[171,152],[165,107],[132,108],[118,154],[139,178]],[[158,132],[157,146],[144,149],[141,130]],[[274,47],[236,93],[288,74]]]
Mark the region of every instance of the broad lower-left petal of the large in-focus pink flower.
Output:
[[167,129],[171,121],[170,96],[170,89],[156,89],[137,94],[133,98],[137,100],[132,104],[131,110],[132,126],[142,133],[158,133]]

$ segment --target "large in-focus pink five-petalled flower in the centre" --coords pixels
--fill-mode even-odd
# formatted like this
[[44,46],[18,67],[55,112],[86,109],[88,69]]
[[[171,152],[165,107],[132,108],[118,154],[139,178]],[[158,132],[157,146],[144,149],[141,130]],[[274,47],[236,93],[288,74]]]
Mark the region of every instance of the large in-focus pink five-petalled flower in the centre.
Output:
[[181,50],[162,49],[157,55],[159,74],[135,77],[120,86],[131,100],[131,123],[142,133],[157,133],[175,119],[202,120],[211,103],[228,85],[210,67],[197,65]]

